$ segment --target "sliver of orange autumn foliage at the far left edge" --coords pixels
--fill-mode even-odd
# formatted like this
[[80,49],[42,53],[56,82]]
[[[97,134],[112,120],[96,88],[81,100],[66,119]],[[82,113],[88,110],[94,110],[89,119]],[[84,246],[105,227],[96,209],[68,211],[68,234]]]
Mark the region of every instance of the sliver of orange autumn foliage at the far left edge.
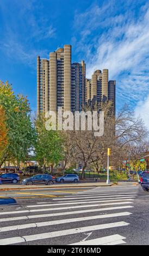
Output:
[[0,106],[0,159],[2,158],[4,151],[8,144],[8,129],[6,126],[5,111],[2,106]]

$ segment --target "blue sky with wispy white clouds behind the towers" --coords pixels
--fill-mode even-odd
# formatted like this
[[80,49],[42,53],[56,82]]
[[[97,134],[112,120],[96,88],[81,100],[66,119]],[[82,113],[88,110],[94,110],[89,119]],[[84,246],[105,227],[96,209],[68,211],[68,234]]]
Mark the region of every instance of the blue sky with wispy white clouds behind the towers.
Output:
[[28,95],[33,111],[36,56],[71,44],[72,60],[85,60],[88,78],[94,69],[109,69],[117,109],[127,103],[148,118],[148,1],[1,0],[0,25],[0,80]]

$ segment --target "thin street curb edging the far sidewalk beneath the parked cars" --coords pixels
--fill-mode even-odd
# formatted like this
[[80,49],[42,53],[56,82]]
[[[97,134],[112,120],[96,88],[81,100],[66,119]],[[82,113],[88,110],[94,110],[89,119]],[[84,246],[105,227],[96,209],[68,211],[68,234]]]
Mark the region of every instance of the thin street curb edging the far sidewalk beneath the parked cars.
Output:
[[[101,185],[101,187],[111,187],[114,184],[109,184],[109,185]],[[53,187],[53,186],[45,186],[46,188],[59,188],[59,187]],[[100,187],[100,185],[86,185],[86,186],[65,186],[65,187],[60,187],[60,188],[76,188],[76,187]],[[44,187],[18,187],[18,188],[0,188],[0,191],[11,191],[11,190],[34,190],[34,189],[42,189]]]

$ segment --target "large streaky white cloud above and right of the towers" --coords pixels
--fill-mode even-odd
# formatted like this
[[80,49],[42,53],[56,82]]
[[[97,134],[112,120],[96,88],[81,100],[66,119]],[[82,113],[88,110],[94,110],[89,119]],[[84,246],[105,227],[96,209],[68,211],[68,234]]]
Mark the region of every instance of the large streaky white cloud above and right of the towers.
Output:
[[109,1],[77,13],[77,24],[82,25],[77,29],[75,20],[75,33],[80,35],[75,43],[87,58],[87,76],[108,68],[109,79],[117,83],[117,107],[127,102],[135,108],[149,94],[149,5],[140,5],[137,15],[131,2],[123,13],[114,8],[115,1]]

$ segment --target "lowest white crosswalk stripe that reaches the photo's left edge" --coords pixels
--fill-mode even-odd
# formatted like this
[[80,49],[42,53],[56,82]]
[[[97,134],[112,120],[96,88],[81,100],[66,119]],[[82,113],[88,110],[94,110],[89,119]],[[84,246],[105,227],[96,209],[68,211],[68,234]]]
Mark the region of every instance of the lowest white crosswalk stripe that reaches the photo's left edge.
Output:
[[42,234],[9,237],[9,238],[5,238],[5,239],[0,239],[0,245],[12,245],[13,243],[42,240],[42,239],[48,239],[48,238],[59,237],[59,236],[64,236],[64,235],[78,234],[78,233],[83,233],[83,232],[87,232],[87,231],[122,227],[122,226],[126,226],[126,225],[129,225],[129,223],[121,221],[121,222],[106,223],[106,224],[100,224],[100,225],[92,225],[89,227],[79,227],[79,228],[73,228],[73,229],[53,231],[53,232],[42,233]]

